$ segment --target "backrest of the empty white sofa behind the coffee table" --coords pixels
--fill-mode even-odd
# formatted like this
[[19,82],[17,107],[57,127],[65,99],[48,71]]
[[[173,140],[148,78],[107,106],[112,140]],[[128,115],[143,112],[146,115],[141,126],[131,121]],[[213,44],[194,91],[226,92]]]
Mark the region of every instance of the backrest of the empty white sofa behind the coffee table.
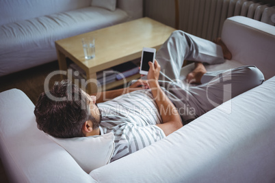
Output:
[[1,0],[0,25],[90,6],[91,0]]

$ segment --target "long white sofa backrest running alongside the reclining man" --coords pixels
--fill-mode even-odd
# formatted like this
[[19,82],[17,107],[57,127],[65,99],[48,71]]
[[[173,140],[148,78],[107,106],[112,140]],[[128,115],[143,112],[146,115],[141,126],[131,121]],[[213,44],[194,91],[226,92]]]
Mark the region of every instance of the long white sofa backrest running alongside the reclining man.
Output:
[[272,182],[274,101],[275,76],[90,175],[99,182]]

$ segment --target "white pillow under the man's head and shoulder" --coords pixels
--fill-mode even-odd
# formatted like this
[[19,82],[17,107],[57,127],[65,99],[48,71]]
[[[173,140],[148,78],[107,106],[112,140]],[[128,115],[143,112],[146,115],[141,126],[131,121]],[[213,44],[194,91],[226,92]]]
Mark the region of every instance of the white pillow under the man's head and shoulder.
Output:
[[107,165],[114,154],[113,133],[71,139],[51,137],[51,139],[73,156],[86,173]]

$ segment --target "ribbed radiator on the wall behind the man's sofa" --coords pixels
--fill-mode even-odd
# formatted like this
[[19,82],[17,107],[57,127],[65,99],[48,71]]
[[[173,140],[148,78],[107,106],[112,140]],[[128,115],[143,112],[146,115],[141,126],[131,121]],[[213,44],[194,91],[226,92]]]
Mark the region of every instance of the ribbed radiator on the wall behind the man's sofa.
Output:
[[213,40],[220,37],[224,20],[237,15],[275,25],[275,6],[268,4],[252,0],[179,0],[178,28]]

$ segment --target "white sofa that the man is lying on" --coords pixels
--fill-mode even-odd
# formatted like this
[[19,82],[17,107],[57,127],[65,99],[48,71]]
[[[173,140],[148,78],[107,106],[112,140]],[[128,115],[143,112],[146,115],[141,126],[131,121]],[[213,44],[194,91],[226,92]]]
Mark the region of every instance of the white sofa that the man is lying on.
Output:
[[10,182],[274,182],[275,27],[236,16],[224,23],[222,39],[233,60],[209,70],[254,64],[268,80],[90,173],[36,128],[23,92],[0,93],[0,155]]

